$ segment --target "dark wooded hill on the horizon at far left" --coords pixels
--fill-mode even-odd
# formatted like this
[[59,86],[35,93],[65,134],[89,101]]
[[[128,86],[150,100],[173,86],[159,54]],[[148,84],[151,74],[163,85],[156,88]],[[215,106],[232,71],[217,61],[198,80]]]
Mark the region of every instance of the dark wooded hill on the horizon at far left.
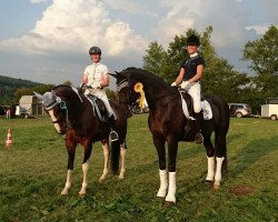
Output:
[[33,88],[40,83],[0,75],[0,104],[11,104],[13,93],[19,88]]

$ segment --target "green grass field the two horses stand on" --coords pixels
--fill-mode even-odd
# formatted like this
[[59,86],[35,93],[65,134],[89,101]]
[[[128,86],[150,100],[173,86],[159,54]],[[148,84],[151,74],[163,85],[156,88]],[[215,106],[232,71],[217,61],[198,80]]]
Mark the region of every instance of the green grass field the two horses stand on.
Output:
[[[7,130],[14,145],[4,148]],[[231,119],[228,175],[218,191],[201,183],[205,149],[179,143],[177,204],[156,198],[158,160],[147,115],[129,120],[126,179],[102,173],[102,149],[90,159],[87,195],[80,198],[82,149],[77,150],[72,189],[66,182],[67,152],[50,119],[0,119],[0,221],[278,221],[278,121]]]

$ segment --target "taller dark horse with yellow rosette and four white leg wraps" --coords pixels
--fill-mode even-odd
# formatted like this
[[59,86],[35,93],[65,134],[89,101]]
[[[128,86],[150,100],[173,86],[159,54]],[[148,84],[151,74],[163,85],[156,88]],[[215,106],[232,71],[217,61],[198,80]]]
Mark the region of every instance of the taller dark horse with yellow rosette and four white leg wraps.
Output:
[[[128,68],[117,74],[117,87],[121,103],[132,105],[140,97],[142,88],[149,104],[148,124],[159,158],[160,188],[157,193],[166,198],[166,205],[176,203],[176,159],[179,141],[193,142],[197,133],[196,121],[187,119],[182,112],[182,102],[177,88],[170,87],[162,79],[142,69]],[[138,88],[138,83],[141,85]],[[138,90],[139,89],[139,90]],[[186,94],[186,103],[192,110],[190,95]],[[208,158],[206,181],[220,186],[221,172],[227,169],[226,135],[229,129],[229,108],[227,102],[217,95],[206,95],[212,110],[212,119],[203,121],[203,145]],[[215,147],[210,137],[215,132]],[[168,143],[168,172],[166,167],[166,149]],[[169,181],[167,179],[169,174]]]

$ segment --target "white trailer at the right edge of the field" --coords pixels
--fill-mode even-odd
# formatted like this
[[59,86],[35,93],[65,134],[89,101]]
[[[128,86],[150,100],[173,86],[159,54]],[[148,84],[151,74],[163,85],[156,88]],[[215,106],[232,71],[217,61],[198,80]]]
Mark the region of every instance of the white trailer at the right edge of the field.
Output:
[[261,117],[271,120],[278,119],[278,98],[268,98],[266,100],[266,104],[261,105]]

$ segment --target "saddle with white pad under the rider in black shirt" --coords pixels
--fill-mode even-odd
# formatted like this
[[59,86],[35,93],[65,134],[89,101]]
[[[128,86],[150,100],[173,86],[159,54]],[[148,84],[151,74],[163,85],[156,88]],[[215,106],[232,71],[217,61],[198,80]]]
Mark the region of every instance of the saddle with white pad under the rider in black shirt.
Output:
[[[195,111],[193,111],[193,99],[191,95],[183,89],[179,89],[179,93],[181,97],[182,111],[187,119],[195,120]],[[201,111],[203,115],[203,120],[212,119],[212,110],[208,101],[201,97]]]

